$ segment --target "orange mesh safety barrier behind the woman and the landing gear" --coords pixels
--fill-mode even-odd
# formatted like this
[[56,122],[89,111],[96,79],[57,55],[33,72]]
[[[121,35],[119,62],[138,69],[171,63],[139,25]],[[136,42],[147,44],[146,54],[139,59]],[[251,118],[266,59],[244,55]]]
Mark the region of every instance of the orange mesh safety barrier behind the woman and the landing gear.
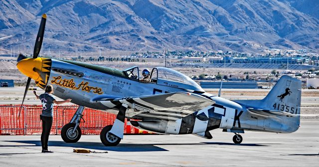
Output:
[[[78,106],[54,106],[51,134],[61,134],[62,127],[69,123]],[[32,135],[41,134],[42,123],[39,115],[41,105],[20,106],[0,105],[0,135]],[[100,110],[85,108],[83,112],[85,122],[80,123],[83,135],[99,135],[101,130],[112,125],[116,119],[115,114]],[[124,134],[148,134],[131,125],[125,119]]]

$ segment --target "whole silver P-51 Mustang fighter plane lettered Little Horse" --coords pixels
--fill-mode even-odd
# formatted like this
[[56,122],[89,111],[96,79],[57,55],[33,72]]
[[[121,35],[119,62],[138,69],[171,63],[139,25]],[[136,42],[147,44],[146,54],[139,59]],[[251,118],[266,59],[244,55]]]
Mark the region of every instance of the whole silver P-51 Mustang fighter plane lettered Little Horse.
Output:
[[[212,139],[209,131],[239,133],[260,131],[292,133],[300,126],[301,81],[282,76],[262,100],[227,100],[206,93],[196,82],[175,70],[156,67],[151,83],[140,82],[139,67],[118,70],[82,62],[38,57],[46,15],[43,14],[32,58],[19,55],[17,68],[28,76],[23,101],[31,79],[40,88],[54,87],[54,95],[79,105],[70,123],[61,131],[65,142],[77,142],[85,107],[117,114],[113,125],[101,131],[106,146],[123,139],[125,118],[139,129],[160,134],[193,134]],[[132,76],[138,77],[132,77]],[[22,101],[22,104],[23,104]]]

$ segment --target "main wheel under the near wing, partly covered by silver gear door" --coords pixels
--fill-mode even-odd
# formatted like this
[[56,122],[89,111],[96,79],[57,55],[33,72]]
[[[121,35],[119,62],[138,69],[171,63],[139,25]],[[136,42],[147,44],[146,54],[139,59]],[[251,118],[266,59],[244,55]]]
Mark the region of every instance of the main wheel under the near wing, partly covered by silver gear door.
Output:
[[104,127],[100,134],[100,139],[105,146],[117,146],[121,142],[121,138],[109,133],[113,125]]

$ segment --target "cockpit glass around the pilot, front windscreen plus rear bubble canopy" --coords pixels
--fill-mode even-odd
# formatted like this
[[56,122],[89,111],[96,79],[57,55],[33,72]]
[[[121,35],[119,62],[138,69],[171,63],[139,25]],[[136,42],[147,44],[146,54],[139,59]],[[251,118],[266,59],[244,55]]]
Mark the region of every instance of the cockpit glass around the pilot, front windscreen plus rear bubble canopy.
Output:
[[[131,67],[124,70],[126,74],[133,80],[139,80],[139,67]],[[169,87],[205,92],[195,81],[190,79],[183,73],[170,68],[156,67],[151,73],[151,84],[164,85]]]

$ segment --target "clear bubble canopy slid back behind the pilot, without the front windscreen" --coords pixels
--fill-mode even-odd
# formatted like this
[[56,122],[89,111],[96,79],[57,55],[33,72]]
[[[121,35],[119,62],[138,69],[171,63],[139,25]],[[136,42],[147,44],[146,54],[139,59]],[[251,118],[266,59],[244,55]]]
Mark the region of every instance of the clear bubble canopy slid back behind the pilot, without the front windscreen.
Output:
[[153,76],[156,72],[155,69],[157,69],[157,81],[160,85],[205,92],[195,81],[193,81],[183,73],[170,68],[156,67],[152,70]]

